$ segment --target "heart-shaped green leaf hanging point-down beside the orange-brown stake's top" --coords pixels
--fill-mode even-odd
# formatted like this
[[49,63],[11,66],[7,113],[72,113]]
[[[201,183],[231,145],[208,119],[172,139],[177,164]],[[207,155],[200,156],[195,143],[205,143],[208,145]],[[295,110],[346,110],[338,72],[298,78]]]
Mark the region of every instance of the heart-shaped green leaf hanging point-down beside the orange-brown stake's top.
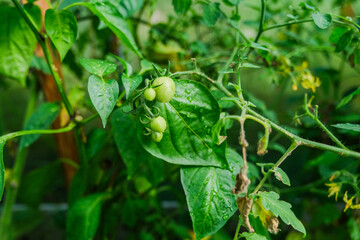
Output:
[[62,61],[76,40],[78,26],[74,14],[70,10],[48,9],[45,13],[45,30]]

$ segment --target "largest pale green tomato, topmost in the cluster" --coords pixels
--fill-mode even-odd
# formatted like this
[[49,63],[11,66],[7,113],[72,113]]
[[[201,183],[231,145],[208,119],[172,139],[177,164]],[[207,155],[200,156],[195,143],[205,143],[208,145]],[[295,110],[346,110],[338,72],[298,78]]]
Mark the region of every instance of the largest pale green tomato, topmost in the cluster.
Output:
[[152,83],[152,86],[155,87],[156,100],[159,102],[170,102],[175,94],[175,83],[169,77],[159,77],[156,78]]

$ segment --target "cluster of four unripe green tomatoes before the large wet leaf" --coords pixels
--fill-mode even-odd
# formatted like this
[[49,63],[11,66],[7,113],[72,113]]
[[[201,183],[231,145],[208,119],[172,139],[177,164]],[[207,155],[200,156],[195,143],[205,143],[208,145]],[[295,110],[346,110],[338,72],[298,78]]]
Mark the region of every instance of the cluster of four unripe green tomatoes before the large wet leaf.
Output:
[[[144,91],[144,98],[147,101],[156,100],[167,103],[174,97],[175,83],[169,77],[158,77],[154,80],[151,87]],[[166,130],[166,121],[163,117],[157,116],[150,121],[151,138],[155,142],[160,142],[163,132]]]

